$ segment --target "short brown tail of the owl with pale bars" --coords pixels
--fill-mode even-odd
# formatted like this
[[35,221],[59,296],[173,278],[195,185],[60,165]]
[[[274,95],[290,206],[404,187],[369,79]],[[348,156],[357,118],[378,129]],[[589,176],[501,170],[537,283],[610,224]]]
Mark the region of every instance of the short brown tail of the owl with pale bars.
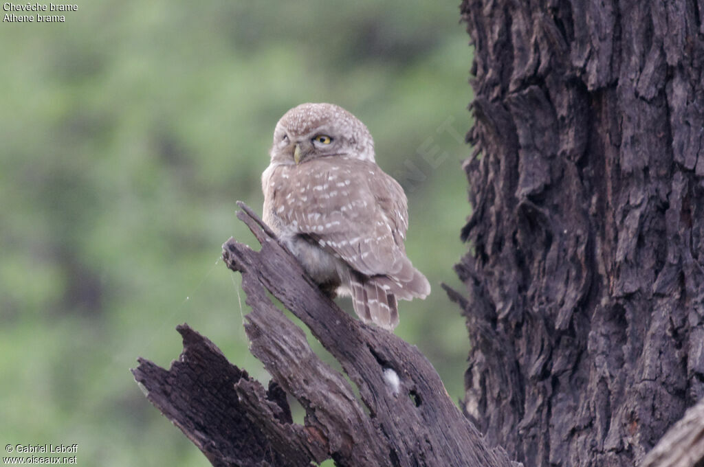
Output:
[[[410,265],[410,262],[409,262]],[[417,269],[410,267],[406,281],[389,276],[362,276],[353,274],[350,283],[352,305],[357,316],[365,323],[394,331],[398,326],[398,303],[415,297],[425,298],[430,284]]]

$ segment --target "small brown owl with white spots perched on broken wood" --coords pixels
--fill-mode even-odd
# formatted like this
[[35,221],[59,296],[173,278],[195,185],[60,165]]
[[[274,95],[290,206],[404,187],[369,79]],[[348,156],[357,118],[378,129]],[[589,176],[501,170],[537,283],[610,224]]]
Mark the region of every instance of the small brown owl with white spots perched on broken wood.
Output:
[[365,124],[338,105],[298,105],[277,123],[270,156],[264,222],[322,290],[393,330],[396,300],[425,298],[430,284],[406,256],[406,194],[375,162]]

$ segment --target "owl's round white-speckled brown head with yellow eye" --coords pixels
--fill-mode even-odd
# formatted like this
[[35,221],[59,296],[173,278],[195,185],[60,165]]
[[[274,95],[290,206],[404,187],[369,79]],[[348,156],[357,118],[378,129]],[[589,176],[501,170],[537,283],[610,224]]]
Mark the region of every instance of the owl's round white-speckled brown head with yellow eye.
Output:
[[270,155],[282,164],[345,155],[374,162],[374,140],[365,124],[339,105],[305,103],[276,124]]

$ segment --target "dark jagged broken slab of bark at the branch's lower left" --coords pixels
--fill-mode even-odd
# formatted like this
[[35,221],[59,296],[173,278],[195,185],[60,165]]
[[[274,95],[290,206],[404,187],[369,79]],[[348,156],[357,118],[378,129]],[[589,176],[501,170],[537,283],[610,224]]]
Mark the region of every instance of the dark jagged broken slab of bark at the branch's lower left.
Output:
[[309,466],[327,457],[315,432],[292,423],[279,385],[265,390],[210,340],[185,324],[177,330],[184,350],[168,371],[139,359],[132,373],[149,401],[213,466]]

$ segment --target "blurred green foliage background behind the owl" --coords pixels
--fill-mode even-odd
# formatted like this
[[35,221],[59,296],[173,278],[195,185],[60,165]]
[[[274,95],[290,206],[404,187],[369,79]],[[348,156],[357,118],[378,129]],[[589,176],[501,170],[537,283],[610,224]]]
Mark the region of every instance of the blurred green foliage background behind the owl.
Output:
[[185,321],[268,380],[218,258],[230,236],[256,243],[234,201],[260,210],[274,125],[306,101],[357,115],[406,188],[433,293],[401,302],[396,332],[461,397],[469,343],[439,286],[460,287],[470,212],[457,3],[108,0],[0,24],[0,440],[77,443],[82,465],[209,465],[129,369],[168,366]]

